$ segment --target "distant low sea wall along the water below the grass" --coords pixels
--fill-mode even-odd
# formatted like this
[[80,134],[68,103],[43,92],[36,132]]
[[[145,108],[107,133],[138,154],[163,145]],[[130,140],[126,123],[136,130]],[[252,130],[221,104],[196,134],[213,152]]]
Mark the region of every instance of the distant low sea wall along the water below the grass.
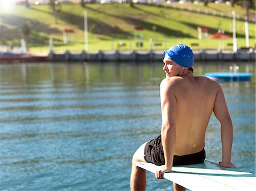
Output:
[[[255,49],[233,50],[196,49],[196,61],[255,61]],[[22,56],[0,56],[0,62],[82,62],[82,61],[162,61],[162,50],[97,50],[95,52],[25,54]]]

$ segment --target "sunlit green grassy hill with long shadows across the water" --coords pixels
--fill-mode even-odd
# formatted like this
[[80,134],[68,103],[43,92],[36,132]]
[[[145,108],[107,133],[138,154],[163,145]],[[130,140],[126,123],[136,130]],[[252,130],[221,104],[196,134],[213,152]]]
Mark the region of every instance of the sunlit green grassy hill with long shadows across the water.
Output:
[[[183,6],[183,7],[181,7]],[[180,10],[178,8],[182,8]],[[191,7],[191,8],[189,8]],[[189,11],[193,9],[195,11]],[[200,9],[200,12],[199,12]],[[57,24],[48,5],[13,6],[10,9],[1,10],[0,32],[2,45],[19,45],[20,38],[24,38],[22,27],[30,28],[30,35],[25,37],[27,45],[32,50],[48,50],[48,40],[53,39],[55,50],[82,50],[84,49],[84,14],[88,14],[89,49],[110,50],[116,49],[119,41],[126,44],[122,49],[137,49],[134,40],[134,27],[142,26],[143,49],[149,49],[149,39],[153,43],[161,44],[154,46],[157,49],[168,48],[168,46],[185,43],[199,44],[201,48],[218,48],[218,45],[232,43],[232,39],[214,40],[197,39],[197,27],[206,26],[209,28],[209,35],[217,32],[218,29],[225,30],[225,33],[232,36],[232,19],[225,17],[232,10],[237,15],[244,16],[245,9],[240,6],[234,9],[225,5],[209,3],[204,7],[203,3],[194,5],[186,3],[179,5],[172,3],[168,7],[135,5],[129,4],[88,4],[85,8],[80,5],[60,5],[57,14]],[[197,11],[196,11],[197,10]],[[214,12],[214,15],[207,15],[205,12]],[[250,10],[255,14],[254,10]],[[220,15],[224,16],[220,16]],[[74,43],[63,44],[63,29],[72,28],[75,30]],[[237,20],[238,46],[245,46],[244,22]],[[138,32],[141,35],[141,32]],[[250,46],[255,44],[255,24],[249,23]]]

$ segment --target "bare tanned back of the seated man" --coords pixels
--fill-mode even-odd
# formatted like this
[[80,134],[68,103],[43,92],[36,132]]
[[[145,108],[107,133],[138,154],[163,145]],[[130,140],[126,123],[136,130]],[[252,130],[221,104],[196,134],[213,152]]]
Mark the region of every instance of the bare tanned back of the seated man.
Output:
[[172,77],[177,101],[176,146],[174,155],[182,156],[203,150],[205,131],[214,108],[219,85],[207,77]]

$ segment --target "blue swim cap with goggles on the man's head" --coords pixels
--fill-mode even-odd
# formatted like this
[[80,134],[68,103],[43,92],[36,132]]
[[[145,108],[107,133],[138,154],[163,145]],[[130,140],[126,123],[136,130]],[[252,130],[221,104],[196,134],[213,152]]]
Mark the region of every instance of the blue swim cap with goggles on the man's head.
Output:
[[184,44],[178,44],[164,50],[164,58],[170,59],[182,67],[192,67],[194,63],[192,50]]

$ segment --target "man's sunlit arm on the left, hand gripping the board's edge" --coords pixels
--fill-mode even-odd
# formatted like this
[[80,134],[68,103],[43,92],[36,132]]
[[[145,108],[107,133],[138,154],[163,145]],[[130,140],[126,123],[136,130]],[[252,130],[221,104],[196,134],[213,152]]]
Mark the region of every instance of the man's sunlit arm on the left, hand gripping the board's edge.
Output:
[[175,118],[177,111],[177,102],[172,90],[172,80],[167,82],[164,79],[160,84],[160,97],[161,97],[161,109],[162,109],[162,145],[164,151],[165,164],[160,166],[156,171],[155,177],[157,179],[163,179],[162,174],[164,172],[171,172],[172,163],[174,160],[174,148],[176,143],[176,126]]

